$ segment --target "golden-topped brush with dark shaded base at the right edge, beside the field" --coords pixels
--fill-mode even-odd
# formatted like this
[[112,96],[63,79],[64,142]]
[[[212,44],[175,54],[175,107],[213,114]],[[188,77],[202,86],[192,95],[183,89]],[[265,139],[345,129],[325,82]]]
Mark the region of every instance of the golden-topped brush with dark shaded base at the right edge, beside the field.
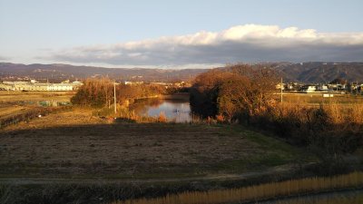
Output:
[[274,131],[297,145],[354,152],[363,144],[363,103],[329,102],[311,107],[303,102],[283,102],[250,117],[249,124]]

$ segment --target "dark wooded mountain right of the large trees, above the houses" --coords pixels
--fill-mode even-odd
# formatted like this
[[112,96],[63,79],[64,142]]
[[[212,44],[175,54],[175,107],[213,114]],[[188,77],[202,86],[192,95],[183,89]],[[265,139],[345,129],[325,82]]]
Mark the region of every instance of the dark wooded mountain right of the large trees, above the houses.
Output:
[[290,82],[328,83],[340,78],[363,83],[363,63],[275,63],[272,66]]

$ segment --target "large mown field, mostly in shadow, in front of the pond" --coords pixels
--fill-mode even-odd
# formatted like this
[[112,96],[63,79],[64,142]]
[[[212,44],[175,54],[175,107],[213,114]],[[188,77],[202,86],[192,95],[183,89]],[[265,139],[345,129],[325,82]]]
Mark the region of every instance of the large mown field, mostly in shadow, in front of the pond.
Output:
[[110,123],[74,110],[0,131],[3,178],[153,179],[236,174],[289,164],[299,151],[240,127]]

